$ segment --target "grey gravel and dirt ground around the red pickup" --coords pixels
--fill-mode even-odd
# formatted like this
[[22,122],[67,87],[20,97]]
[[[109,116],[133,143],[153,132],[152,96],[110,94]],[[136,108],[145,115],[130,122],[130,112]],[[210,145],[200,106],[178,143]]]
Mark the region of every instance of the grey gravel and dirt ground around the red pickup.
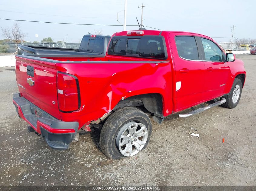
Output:
[[[256,185],[256,55],[237,58],[245,63],[247,79],[235,109],[215,107],[188,119],[177,113],[162,125],[152,121],[148,148],[107,166],[98,166],[108,159],[99,149],[99,132],[80,136],[65,151],[29,134],[12,104],[18,92],[14,67],[0,68],[0,187]],[[189,135],[189,127],[200,137]]]

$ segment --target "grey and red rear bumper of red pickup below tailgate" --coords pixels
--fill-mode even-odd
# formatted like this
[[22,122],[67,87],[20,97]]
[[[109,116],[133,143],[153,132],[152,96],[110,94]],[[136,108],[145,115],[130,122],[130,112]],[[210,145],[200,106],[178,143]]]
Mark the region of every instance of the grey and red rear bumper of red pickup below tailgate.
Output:
[[13,104],[18,116],[29,123],[38,134],[41,134],[51,148],[59,150],[68,148],[78,130],[78,122],[58,120],[24,97],[20,97],[19,94],[13,95]]

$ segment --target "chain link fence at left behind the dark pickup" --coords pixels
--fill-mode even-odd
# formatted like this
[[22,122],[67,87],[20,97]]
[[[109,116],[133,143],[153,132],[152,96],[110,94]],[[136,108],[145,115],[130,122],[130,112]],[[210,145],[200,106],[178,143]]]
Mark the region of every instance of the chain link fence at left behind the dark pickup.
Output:
[[[79,49],[80,43],[20,43],[25,46],[41,46],[41,47],[56,47],[56,48],[71,48]],[[18,50],[16,43],[0,43],[0,56],[15,55]]]

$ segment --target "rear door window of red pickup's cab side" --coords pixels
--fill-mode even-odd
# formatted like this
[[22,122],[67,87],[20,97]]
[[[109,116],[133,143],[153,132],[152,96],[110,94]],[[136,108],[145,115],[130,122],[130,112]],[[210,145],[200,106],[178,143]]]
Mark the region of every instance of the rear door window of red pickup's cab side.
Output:
[[176,36],[175,43],[179,57],[189,60],[199,60],[198,49],[194,37]]

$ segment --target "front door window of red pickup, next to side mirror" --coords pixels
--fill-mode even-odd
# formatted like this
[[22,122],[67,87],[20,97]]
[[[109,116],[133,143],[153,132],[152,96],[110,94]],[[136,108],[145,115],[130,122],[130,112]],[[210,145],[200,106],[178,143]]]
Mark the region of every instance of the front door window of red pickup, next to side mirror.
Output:
[[222,50],[214,42],[205,38],[201,38],[201,40],[204,47],[205,60],[223,61]]

